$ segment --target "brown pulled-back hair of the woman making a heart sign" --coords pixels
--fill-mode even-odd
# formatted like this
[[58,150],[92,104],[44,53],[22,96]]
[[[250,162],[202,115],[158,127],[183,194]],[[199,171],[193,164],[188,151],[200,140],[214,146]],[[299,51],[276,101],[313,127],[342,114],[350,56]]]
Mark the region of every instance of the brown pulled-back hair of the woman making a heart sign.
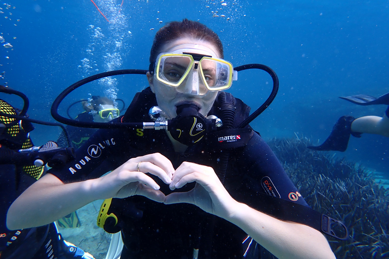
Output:
[[200,22],[184,19],[182,22],[170,22],[157,31],[150,51],[150,67],[154,64],[158,54],[160,54],[162,46],[185,36],[210,42],[219,50],[220,58],[223,58],[223,45],[219,36]]

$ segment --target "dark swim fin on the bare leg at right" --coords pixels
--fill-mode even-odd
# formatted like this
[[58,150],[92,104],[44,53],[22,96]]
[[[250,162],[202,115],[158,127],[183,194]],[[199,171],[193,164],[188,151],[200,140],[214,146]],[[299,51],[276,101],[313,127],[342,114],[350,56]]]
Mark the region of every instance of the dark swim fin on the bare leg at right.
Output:
[[319,150],[319,151],[341,151],[344,152],[347,149],[348,140],[350,135],[360,138],[361,133],[351,132],[351,123],[355,120],[352,116],[342,116],[335,123],[332,128],[330,136],[320,146],[308,146],[307,148]]

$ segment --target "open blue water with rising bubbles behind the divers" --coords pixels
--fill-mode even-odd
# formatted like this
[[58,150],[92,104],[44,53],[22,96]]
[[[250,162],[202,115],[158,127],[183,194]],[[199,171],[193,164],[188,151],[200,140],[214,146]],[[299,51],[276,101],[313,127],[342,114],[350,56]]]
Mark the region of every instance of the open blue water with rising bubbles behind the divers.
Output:
[[[29,97],[32,118],[54,121],[50,115],[53,100],[84,77],[113,69],[147,69],[155,32],[166,22],[183,18],[199,20],[217,32],[224,58],[235,66],[261,63],[276,71],[279,94],[251,123],[264,139],[297,135],[317,144],[326,139],[340,116],[382,116],[386,109],[361,107],[338,97],[378,97],[389,92],[387,0],[131,0],[124,1],[121,9],[120,0],[95,3],[109,22],[90,0],[0,5],[0,35],[4,37],[0,82]],[[6,43],[13,48],[3,47]],[[61,114],[66,114],[68,104],[107,91],[129,104],[146,83],[138,75],[87,84],[65,99]],[[270,88],[269,76],[250,71],[241,73],[230,91],[255,109]],[[17,98],[7,98],[21,106]],[[31,136],[41,145],[59,134],[57,128],[37,126]],[[347,151],[335,155],[389,174],[388,152],[387,138],[364,135],[352,137]]]

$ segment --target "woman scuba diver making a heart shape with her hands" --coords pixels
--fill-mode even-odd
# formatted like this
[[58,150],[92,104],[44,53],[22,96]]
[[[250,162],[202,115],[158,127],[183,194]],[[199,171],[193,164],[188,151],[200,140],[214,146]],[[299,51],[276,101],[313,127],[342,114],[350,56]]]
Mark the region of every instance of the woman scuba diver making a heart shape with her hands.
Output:
[[[76,151],[76,162],[49,170],[18,197],[8,210],[8,228],[45,225],[113,197],[119,199],[112,199],[112,208],[124,211],[109,213],[106,200],[99,224],[117,222],[125,244],[121,258],[244,258],[253,246],[278,258],[335,258],[320,231],[279,220],[270,212],[283,209],[262,202],[263,194],[308,208],[259,134],[250,126],[234,134],[250,108],[223,92],[233,73],[219,37],[205,25],[184,19],[161,28],[150,52],[149,87],[114,121],[151,121],[148,111],[158,106],[167,119],[195,114],[189,130],[98,130]],[[211,115],[231,130],[216,140],[197,137],[205,126],[197,118]]]

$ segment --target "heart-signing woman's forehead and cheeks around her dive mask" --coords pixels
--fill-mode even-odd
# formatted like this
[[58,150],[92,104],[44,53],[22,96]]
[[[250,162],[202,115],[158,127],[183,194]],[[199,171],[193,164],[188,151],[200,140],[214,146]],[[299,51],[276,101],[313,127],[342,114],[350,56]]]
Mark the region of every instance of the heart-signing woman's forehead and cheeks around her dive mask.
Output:
[[[161,53],[176,53],[179,52],[180,49],[188,48],[190,48],[190,53],[220,58],[219,51],[214,45],[207,41],[193,39],[191,37],[180,38],[169,42],[161,49]],[[204,116],[207,116],[217,96],[217,91],[208,91],[205,88],[205,85],[191,86],[191,80],[187,80],[185,88],[205,88],[200,89],[203,95],[193,94],[196,91],[193,91],[193,93],[190,93],[190,91],[187,93],[178,92],[177,88],[171,87],[154,79],[153,75],[149,72],[147,73],[147,79],[151,91],[155,94],[155,97],[157,97],[158,106],[166,113],[168,119],[177,116],[177,106],[182,104],[195,104],[200,107],[199,112]]]

